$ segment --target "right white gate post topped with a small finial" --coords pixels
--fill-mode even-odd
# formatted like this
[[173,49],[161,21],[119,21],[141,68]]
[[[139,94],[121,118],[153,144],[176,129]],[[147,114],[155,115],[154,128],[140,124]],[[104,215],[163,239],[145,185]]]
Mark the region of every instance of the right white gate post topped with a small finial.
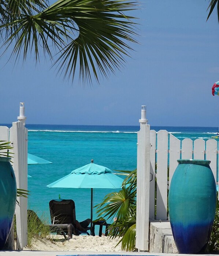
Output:
[[146,120],[146,106],[142,106],[137,143],[137,209],[136,248],[148,250],[149,191],[150,191],[150,125]]

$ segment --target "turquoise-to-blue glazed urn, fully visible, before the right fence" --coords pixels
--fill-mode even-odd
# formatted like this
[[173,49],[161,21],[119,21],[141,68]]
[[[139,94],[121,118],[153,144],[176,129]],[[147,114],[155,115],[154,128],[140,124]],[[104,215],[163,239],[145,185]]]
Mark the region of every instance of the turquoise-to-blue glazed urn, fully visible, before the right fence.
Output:
[[177,160],[168,195],[169,219],[179,253],[203,253],[216,212],[216,184],[207,160]]

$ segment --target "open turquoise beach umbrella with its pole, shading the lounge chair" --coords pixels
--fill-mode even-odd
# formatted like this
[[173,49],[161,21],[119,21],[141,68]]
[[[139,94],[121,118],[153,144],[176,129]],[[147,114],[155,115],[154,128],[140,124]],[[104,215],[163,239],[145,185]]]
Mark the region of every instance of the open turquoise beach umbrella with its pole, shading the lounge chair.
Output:
[[122,187],[122,182],[123,179],[115,175],[111,169],[102,165],[94,164],[93,160],[91,160],[90,164],[75,169],[67,176],[64,176],[63,178],[47,185],[47,187],[91,189],[90,234],[92,235],[93,189],[119,189]]

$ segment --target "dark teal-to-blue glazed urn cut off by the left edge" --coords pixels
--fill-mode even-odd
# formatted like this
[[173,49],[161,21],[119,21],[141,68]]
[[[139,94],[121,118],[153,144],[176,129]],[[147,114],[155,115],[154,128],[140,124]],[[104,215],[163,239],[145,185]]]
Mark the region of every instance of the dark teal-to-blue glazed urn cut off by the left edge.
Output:
[[0,249],[10,233],[16,206],[16,179],[10,160],[0,157]]

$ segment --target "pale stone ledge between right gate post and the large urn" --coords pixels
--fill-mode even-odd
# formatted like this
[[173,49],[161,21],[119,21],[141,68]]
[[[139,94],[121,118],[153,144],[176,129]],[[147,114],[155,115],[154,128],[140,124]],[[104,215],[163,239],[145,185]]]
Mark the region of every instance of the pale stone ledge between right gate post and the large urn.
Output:
[[150,220],[149,239],[149,252],[178,253],[168,220]]

